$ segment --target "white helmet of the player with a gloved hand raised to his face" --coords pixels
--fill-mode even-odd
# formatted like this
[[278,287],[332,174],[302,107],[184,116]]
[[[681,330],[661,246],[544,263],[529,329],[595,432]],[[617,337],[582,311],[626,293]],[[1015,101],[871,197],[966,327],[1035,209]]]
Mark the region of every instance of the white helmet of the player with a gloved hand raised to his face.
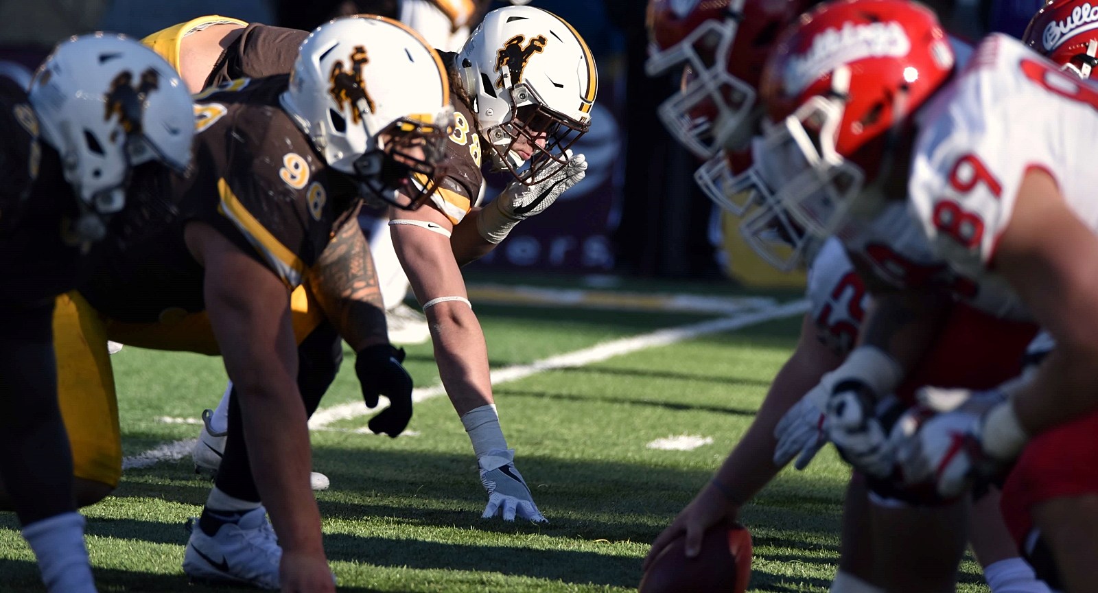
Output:
[[[533,183],[568,161],[598,93],[595,58],[572,25],[533,7],[493,10],[455,61],[496,168]],[[534,155],[515,150],[520,137]],[[529,172],[519,174],[530,157]]]

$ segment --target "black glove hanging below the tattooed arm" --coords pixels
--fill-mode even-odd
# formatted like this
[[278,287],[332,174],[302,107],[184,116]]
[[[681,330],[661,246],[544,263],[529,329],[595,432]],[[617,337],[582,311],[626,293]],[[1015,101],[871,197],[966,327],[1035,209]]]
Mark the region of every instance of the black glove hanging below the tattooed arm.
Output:
[[389,407],[370,418],[370,430],[376,435],[384,433],[396,438],[412,419],[412,377],[401,365],[403,361],[404,348],[389,344],[368,346],[356,356],[355,373],[366,406],[378,405],[380,395],[389,399]]

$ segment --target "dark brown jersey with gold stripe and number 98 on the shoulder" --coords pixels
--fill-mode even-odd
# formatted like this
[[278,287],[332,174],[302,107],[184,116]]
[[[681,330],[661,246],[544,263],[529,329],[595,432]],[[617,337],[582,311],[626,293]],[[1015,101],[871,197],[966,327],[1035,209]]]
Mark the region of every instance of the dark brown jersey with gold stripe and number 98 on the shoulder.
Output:
[[204,310],[202,269],[183,240],[194,221],[217,230],[288,289],[302,282],[333,231],[352,220],[358,199],[279,105],[288,78],[242,79],[236,90],[197,102],[190,174],[135,179],[130,192],[167,194],[173,212],[132,224],[139,233],[111,244],[81,289],[97,310],[133,323]]

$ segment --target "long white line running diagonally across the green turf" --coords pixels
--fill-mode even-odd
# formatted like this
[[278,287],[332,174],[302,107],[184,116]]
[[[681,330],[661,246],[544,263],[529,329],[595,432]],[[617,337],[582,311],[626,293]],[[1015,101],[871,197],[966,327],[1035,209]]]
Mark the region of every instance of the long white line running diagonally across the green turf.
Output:
[[[632,336],[621,339],[616,339],[613,342],[606,342],[603,344],[596,344],[590,348],[584,348],[582,350],[576,350],[574,353],[568,353],[559,356],[552,356],[542,360],[538,360],[530,365],[515,365],[513,367],[505,367],[498,370],[492,371],[492,384],[497,385],[501,383],[506,383],[508,381],[517,381],[519,379],[525,379],[533,374],[539,372],[563,369],[569,367],[582,367],[584,365],[591,365],[593,362],[601,362],[608,358],[615,356],[626,355],[635,353],[637,350],[642,350],[646,348],[654,348],[658,346],[668,346],[675,344],[677,342],[683,342],[686,339],[692,339],[695,337],[718,334],[721,332],[731,332],[733,329],[740,329],[750,325],[755,325],[758,323],[768,322],[771,320],[776,320],[781,317],[788,317],[793,315],[798,315],[808,310],[808,301],[800,299],[797,301],[792,301],[781,305],[764,305],[758,311],[751,311],[747,313],[738,313],[728,317],[721,317],[718,320],[710,320],[701,323],[693,323],[690,325],[681,325],[679,327],[669,327],[666,329],[658,329],[650,334],[641,334],[639,336]],[[446,394],[446,389],[441,384],[435,384],[425,388],[417,388],[412,392],[412,401],[415,403],[424,402],[432,398],[437,398],[438,395]],[[310,429],[324,428],[327,425],[341,421],[356,418],[358,416],[363,416],[366,414],[372,414],[380,410],[383,410],[388,405],[385,398],[381,398],[381,403],[372,410],[367,409],[366,405],[360,401],[334,405],[330,407],[325,407],[317,410],[313,417],[309,421]],[[356,430],[357,432],[357,430]],[[158,461],[175,461],[182,459],[190,455],[191,449],[194,447],[197,439],[186,439],[177,440],[175,443],[169,443],[163,445],[149,451],[145,451],[141,455],[134,457],[127,457],[122,460],[122,468],[147,468],[157,463]]]

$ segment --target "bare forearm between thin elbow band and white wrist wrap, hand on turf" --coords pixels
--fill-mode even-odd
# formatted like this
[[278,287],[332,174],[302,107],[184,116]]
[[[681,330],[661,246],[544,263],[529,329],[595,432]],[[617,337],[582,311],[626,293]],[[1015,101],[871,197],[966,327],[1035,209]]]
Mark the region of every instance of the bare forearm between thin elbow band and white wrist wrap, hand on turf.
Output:
[[458,415],[493,403],[488,346],[477,315],[464,303],[451,301],[428,309],[427,321],[438,374]]

